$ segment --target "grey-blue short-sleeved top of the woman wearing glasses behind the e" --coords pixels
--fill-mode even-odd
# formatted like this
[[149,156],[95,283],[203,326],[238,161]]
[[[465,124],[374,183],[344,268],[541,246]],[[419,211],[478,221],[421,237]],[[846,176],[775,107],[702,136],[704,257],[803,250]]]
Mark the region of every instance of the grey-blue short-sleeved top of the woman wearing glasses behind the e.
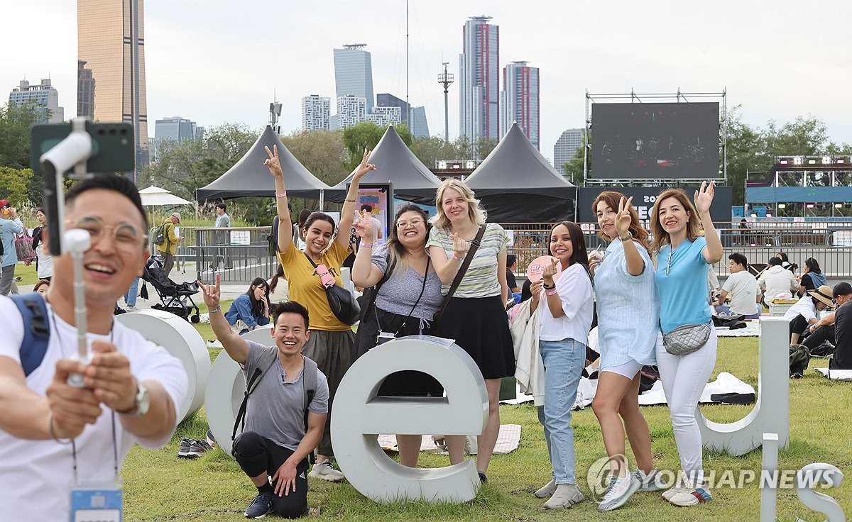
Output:
[[[388,270],[388,247],[383,245],[373,252],[370,261],[382,272]],[[420,295],[420,290],[423,290],[423,296],[418,302],[417,296]],[[432,320],[435,317],[435,313],[443,301],[444,296],[440,295],[438,274],[436,272],[427,273],[426,288],[423,288],[423,276],[412,267],[408,267],[405,271],[394,270],[376,295],[376,307],[380,310],[405,316],[411,313],[412,317],[427,320]],[[412,307],[416,302],[417,307],[412,312]]]

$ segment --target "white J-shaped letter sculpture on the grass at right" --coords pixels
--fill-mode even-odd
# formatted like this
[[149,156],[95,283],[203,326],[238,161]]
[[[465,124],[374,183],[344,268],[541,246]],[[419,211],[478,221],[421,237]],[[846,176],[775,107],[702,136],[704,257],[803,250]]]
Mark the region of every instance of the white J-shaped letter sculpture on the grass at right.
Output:
[[746,455],[760,447],[763,433],[776,433],[778,445],[790,442],[790,345],[789,322],[785,318],[760,319],[760,363],[757,370],[757,403],[737,422],[721,424],[700,415],[704,447],[733,456]]

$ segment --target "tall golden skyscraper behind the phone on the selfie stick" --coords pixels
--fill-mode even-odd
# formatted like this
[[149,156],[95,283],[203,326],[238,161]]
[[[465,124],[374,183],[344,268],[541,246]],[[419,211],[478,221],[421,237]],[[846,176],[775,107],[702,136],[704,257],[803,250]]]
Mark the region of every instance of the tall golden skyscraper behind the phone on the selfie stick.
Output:
[[94,110],[89,112],[86,99],[78,97],[78,114],[133,125],[134,181],[148,160],[143,4],[144,0],[77,2],[78,85],[95,88]]

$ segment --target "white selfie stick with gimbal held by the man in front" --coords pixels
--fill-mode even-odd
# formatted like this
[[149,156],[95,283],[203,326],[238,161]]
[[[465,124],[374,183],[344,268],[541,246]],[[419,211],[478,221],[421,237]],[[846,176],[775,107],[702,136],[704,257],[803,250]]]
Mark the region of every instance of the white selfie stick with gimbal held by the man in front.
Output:
[[[65,231],[65,192],[62,191],[62,175],[74,168],[74,176],[82,179],[86,175],[86,161],[92,156],[92,138],[86,132],[86,118],[74,118],[71,134],[48,152],[39,162],[44,170],[44,198],[48,205],[48,233],[52,255],[71,251],[74,261],[74,322],[77,324],[77,359],[89,364],[89,345],[86,342],[88,321],[86,318],[86,289],[83,283],[83,254],[89,250],[91,240],[84,230]],[[65,232],[63,232],[65,231]],[[56,246],[54,246],[56,245]],[[68,376],[68,385],[83,387],[83,375]]]

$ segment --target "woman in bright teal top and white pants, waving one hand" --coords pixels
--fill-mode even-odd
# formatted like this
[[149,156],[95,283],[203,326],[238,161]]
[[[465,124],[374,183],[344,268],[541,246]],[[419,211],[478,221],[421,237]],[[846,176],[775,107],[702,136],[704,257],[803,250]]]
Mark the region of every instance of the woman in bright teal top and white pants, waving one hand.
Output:
[[[722,242],[710,217],[714,182],[701,183],[695,191],[695,206],[679,188],[663,191],[651,212],[651,250],[657,253],[654,282],[659,295],[659,324],[665,335],[686,324],[711,322],[707,302],[707,275],[722,259]],[[704,227],[704,237],[700,229]],[[711,500],[704,481],[701,432],[695,412],[701,392],[716,365],[716,330],[705,345],[693,353],[676,356],[657,343],[657,366],[669,403],[677,452],[683,477],[663,493],[676,506],[692,506]]]

